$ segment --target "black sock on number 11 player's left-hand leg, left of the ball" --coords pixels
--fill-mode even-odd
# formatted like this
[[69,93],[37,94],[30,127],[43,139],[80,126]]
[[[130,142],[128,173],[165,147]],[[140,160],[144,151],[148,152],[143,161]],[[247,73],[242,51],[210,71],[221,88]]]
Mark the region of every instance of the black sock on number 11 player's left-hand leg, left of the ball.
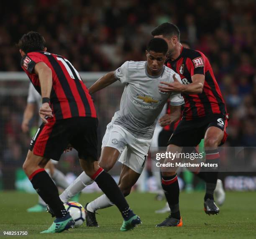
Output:
[[47,203],[56,217],[65,217],[67,211],[59,198],[59,191],[44,168],[40,168],[29,176],[33,188],[38,195]]

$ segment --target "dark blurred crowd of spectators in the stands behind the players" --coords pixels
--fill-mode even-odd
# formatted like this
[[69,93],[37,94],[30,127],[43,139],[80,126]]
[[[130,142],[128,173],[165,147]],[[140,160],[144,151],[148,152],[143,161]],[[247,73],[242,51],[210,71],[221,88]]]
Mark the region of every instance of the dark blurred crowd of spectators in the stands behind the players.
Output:
[[[13,4],[0,3],[0,71],[22,70],[15,43],[31,30],[44,36],[49,52],[68,58],[77,70],[110,71],[127,60],[145,60],[151,31],[163,22],[177,24],[181,40],[210,59],[230,114],[226,145],[256,146],[254,0],[23,0],[15,1],[15,8]],[[117,88],[111,97],[97,95],[96,104],[102,99],[108,105],[102,108],[102,119],[110,120],[120,94]],[[20,130],[26,97],[0,96],[0,104],[0,163],[20,165],[31,137]],[[107,123],[102,124],[101,136]]]

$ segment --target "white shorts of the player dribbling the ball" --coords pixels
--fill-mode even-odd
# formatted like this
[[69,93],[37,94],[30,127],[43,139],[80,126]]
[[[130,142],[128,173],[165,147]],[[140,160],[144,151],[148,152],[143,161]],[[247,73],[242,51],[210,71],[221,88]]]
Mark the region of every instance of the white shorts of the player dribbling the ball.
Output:
[[113,147],[120,152],[119,162],[141,174],[148,156],[151,140],[138,139],[120,125],[110,122],[101,147]]

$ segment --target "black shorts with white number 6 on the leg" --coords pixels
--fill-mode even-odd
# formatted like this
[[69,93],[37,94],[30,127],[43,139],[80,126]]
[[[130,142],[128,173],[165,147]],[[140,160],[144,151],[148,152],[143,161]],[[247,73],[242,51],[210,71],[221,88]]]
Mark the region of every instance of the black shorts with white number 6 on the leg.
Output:
[[205,132],[209,127],[215,126],[224,131],[221,145],[227,139],[226,127],[228,120],[223,114],[211,114],[200,117],[196,120],[181,120],[169,139],[168,145],[179,147],[196,147],[205,137]]

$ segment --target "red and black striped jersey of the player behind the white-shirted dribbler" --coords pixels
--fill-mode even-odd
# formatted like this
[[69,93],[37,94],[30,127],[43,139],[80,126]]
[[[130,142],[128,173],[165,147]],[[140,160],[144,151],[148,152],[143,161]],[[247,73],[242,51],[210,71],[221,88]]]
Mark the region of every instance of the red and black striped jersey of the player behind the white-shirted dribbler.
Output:
[[168,60],[166,65],[179,74],[183,84],[192,83],[192,76],[195,74],[205,75],[201,94],[182,94],[185,101],[183,120],[193,120],[209,114],[227,114],[210,62],[202,52],[182,47],[179,57],[174,61]]

